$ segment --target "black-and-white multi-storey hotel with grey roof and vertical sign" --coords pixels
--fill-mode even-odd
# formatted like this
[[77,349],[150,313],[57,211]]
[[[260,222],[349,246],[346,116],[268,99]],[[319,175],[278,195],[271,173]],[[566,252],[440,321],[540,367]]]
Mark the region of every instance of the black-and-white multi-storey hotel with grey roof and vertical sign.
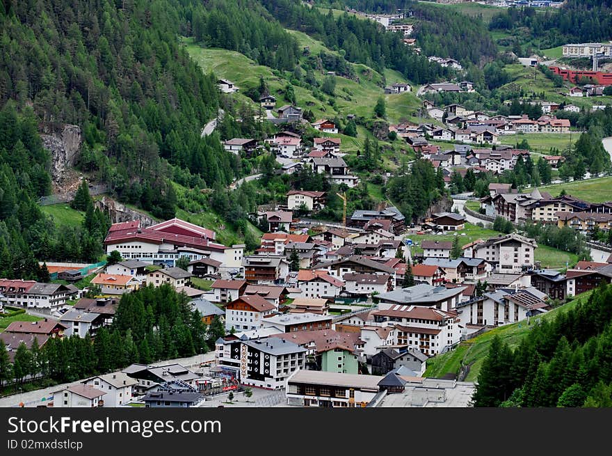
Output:
[[287,378],[305,367],[307,350],[289,340],[268,337],[241,341],[240,382],[266,389],[281,389]]

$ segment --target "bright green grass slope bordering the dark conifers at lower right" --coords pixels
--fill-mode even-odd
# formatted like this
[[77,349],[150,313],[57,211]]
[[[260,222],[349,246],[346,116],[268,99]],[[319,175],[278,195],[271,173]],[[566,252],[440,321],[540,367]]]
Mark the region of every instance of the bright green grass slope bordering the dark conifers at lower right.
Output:
[[586,301],[589,295],[590,292],[580,294],[569,303],[554,308],[549,313],[532,317],[531,324],[529,325],[526,321],[508,324],[503,327],[491,329],[474,339],[465,340],[460,343],[456,349],[453,349],[453,351],[428,359],[425,377],[442,377],[447,373],[457,374],[461,365],[472,364],[465,380],[467,382],[475,382],[478,379],[478,372],[481,370],[481,366],[489,352],[489,346],[494,336],[499,336],[501,340],[510,345],[510,347],[517,347],[522,338],[529,333],[538,320],[551,319],[560,312],[567,312],[567,310],[577,306],[579,301]]

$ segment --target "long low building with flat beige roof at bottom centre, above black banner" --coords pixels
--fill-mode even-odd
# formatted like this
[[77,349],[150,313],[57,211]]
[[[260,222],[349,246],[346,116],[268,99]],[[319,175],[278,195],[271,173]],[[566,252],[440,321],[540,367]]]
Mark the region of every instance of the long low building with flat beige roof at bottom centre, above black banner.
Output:
[[366,407],[378,394],[378,375],[298,370],[287,379],[287,404],[301,407]]

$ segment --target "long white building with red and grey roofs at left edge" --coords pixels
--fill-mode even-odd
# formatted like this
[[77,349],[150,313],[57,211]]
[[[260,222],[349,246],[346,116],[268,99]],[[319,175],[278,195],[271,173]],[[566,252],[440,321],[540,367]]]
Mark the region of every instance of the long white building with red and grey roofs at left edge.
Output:
[[71,295],[70,288],[58,283],[0,278],[0,296],[6,306],[56,310],[66,304]]

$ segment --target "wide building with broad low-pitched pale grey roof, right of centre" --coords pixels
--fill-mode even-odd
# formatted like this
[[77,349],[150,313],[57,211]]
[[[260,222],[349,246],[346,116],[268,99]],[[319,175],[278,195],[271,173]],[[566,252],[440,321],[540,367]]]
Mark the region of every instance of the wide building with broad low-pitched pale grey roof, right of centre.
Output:
[[393,291],[378,294],[378,308],[385,310],[394,306],[426,306],[446,312],[455,308],[463,300],[465,286],[446,288],[442,286],[419,283],[408,288],[396,288]]

